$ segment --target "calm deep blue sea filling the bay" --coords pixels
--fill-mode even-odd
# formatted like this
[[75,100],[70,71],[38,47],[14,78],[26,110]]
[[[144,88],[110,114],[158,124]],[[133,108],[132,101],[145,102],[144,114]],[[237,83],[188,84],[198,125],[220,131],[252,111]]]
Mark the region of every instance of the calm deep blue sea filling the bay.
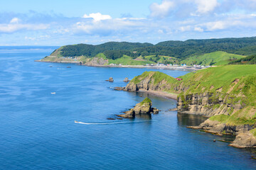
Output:
[[[0,47],[0,169],[256,169],[255,149],[186,128],[206,118],[168,111],[175,100],[112,89],[150,69],[34,62],[54,49]],[[158,115],[107,120],[146,96]]]

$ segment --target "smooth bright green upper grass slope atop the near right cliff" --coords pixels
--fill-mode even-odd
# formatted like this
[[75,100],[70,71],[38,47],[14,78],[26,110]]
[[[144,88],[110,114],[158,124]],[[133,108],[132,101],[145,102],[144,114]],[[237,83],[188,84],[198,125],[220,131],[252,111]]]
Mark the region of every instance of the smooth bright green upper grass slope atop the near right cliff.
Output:
[[[238,84],[235,85],[232,93],[230,93],[239,94],[240,88],[238,87],[242,84],[251,84],[248,82],[250,77],[256,77],[255,65],[225,65],[188,73],[181,77],[183,79],[181,82],[185,86],[190,86],[186,93],[214,92],[220,88],[222,88],[222,93],[227,93],[232,82],[235,79],[239,79],[240,81],[238,81]],[[244,92],[245,94],[250,93],[250,91]]]

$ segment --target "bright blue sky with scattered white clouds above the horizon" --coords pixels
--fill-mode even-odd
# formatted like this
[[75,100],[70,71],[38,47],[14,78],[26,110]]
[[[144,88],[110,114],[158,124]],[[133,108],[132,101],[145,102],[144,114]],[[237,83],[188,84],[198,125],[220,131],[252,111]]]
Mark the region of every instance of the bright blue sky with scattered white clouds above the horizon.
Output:
[[0,45],[256,35],[256,0],[2,1]]

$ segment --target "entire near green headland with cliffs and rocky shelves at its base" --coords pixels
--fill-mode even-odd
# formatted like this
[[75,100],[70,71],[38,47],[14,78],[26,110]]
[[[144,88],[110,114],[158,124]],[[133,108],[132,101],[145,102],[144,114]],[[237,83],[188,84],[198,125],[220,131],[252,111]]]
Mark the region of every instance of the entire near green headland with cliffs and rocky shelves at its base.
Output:
[[208,117],[194,129],[237,135],[233,147],[256,147],[256,67],[211,67],[175,79],[161,72],[134,77],[124,91],[147,91],[176,98],[178,113]]

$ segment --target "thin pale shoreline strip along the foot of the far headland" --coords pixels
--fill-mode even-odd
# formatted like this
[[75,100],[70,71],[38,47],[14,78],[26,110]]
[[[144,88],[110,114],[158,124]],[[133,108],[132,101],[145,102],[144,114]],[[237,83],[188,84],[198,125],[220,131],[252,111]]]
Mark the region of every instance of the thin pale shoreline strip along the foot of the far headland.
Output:
[[[34,60],[34,62],[50,62],[50,61],[42,61],[42,60]],[[64,64],[80,64],[80,62],[70,62],[70,61],[57,61],[51,63],[64,63]],[[180,70],[180,71],[188,71],[193,72],[199,70],[195,67],[183,67],[183,66],[145,66],[145,65],[100,65],[100,64],[80,64],[82,66],[87,67],[111,67],[111,68],[134,68],[134,69],[169,69],[169,70]]]

